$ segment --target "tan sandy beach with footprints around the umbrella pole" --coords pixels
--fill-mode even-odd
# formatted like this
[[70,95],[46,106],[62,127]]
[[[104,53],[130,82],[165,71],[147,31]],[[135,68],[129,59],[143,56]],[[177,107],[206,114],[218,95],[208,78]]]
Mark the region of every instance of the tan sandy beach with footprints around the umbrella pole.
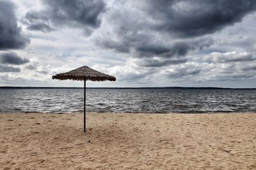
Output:
[[0,169],[256,169],[256,114],[0,114]]

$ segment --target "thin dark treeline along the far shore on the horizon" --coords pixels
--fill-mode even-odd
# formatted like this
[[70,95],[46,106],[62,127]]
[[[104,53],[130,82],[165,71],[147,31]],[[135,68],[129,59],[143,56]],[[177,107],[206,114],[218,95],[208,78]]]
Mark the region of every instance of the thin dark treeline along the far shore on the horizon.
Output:
[[[84,89],[83,87],[0,87],[0,89]],[[234,89],[256,90],[256,88],[223,88],[223,87],[86,87],[86,89]]]

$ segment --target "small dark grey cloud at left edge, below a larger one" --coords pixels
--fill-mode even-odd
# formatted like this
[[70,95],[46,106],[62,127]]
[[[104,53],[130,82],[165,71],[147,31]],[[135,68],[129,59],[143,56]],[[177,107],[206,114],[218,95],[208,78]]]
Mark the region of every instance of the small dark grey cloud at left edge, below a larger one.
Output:
[[0,63],[2,64],[21,65],[26,64],[28,62],[28,59],[23,59],[15,52],[0,53]]

